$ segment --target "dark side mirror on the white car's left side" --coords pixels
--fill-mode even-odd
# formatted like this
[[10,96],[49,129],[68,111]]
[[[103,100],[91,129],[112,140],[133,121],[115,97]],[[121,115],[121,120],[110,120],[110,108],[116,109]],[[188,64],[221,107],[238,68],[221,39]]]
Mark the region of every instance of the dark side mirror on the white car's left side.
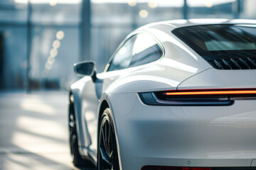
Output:
[[96,68],[95,62],[85,61],[85,62],[77,62],[74,64],[74,72],[80,77],[90,76],[92,80],[95,81],[96,77]]

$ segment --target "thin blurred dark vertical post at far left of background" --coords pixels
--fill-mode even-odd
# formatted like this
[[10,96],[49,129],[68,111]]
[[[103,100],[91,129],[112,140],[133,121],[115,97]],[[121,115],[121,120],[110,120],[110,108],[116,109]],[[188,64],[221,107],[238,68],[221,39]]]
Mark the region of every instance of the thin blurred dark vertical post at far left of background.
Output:
[[31,92],[31,81],[30,81],[30,69],[31,69],[31,31],[32,31],[32,23],[31,23],[31,13],[32,13],[32,7],[31,7],[31,2],[28,0],[28,16],[27,16],[27,37],[26,37],[26,53],[27,53],[27,58],[26,58],[26,92],[30,93]]

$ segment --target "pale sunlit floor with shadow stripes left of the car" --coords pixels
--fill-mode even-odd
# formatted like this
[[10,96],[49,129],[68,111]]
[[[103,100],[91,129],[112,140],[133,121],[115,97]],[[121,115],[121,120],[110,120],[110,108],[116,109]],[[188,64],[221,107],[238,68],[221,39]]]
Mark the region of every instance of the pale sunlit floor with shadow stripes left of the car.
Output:
[[78,169],[70,161],[67,103],[66,91],[0,92],[0,169]]

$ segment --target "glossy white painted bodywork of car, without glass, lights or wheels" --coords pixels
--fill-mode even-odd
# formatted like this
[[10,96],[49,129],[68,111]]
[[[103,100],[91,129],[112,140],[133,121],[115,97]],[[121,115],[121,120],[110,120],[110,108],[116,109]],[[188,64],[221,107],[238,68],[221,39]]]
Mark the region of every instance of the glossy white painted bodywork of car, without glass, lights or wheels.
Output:
[[102,103],[107,103],[122,170],[139,170],[145,165],[256,166],[252,161],[256,159],[255,100],[235,101],[232,106],[146,106],[138,96],[173,89],[256,88],[256,70],[213,69],[171,33],[175,28],[215,23],[255,21],[199,19],[149,24],[127,38],[137,33],[154,36],[164,57],[102,72],[95,83],[91,77],[83,77],[72,84],[80,154],[97,161],[97,125]]

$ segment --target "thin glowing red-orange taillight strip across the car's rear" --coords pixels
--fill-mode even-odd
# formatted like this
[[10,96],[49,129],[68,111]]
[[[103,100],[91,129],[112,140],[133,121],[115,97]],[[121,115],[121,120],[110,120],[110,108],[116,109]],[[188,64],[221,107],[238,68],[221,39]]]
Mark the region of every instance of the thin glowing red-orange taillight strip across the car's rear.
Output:
[[234,90],[234,91],[175,91],[165,93],[171,95],[208,95],[208,94],[256,94],[256,90]]

